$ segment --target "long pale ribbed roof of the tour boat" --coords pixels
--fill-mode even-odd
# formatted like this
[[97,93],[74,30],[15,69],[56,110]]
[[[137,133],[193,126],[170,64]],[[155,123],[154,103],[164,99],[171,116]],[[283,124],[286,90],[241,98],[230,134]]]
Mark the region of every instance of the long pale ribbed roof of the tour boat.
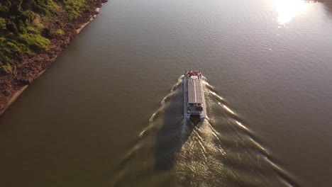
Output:
[[201,79],[190,77],[188,79],[188,103],[203,103],[202,89]]

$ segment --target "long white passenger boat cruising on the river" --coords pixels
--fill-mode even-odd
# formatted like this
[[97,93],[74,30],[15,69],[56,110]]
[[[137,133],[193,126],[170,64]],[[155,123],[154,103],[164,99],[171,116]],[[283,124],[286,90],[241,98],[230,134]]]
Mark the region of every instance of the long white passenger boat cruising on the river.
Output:
[[183,79],[184,118],[198,115],[201,120],[206,117],[206,106],[201,72],[190,70]]

